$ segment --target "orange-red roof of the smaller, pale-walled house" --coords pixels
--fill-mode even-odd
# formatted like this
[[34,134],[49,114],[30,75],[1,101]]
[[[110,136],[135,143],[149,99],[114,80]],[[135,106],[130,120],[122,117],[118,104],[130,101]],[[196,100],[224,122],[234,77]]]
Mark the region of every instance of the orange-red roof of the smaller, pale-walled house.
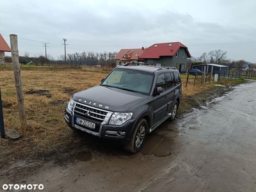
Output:
[[[145,51],[144,48],[141,49],[121,49],[115,56],[115,60],[130,61],[139,60],[141,54]],[[127,57],[125,55],[127,54]]]

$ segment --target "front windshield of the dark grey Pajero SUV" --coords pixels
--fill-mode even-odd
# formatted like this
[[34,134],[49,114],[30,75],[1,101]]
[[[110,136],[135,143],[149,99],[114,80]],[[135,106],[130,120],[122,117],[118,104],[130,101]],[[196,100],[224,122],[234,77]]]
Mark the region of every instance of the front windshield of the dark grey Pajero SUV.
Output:
[[116,68],[100,85],[149,95],[153,79],[153,74],[148,72]]

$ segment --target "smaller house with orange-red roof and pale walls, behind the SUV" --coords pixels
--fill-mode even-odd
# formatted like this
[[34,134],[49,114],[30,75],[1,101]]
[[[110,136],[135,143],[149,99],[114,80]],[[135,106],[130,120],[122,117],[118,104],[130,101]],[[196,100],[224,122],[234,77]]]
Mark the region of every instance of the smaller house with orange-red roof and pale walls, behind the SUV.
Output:
[[143,63],[140,59],[141,54],[145,51],[141,49],[121,49],[115,56],[116,65],[124,65],[127,63]]

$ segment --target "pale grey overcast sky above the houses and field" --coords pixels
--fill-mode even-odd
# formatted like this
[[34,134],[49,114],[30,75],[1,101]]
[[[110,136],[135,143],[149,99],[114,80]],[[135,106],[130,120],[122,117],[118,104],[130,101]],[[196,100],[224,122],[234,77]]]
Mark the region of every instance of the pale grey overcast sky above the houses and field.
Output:
[[181,42],[194,57],[221,49],[256,63],[255,0],[2,0],[0,10],[0,33],[9,45],[18,35],[20,56],[45,55],[45,42],[57,59],[67,38],[67,53]]

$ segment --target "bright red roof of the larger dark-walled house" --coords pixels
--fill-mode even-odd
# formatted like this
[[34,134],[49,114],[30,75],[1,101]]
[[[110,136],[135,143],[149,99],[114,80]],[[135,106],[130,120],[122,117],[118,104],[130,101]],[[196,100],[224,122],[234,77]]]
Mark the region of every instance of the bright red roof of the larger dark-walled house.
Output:
[[141,59],[158,59],[161,56],[173,56],[179,51],[180,47],[186,49],[188,58],[191,58],[191,55],[188,51],[188,47],[181,44],[180,42],[169,42],[163,44],[154,44],[145,49],[143,54],[141,54]]

